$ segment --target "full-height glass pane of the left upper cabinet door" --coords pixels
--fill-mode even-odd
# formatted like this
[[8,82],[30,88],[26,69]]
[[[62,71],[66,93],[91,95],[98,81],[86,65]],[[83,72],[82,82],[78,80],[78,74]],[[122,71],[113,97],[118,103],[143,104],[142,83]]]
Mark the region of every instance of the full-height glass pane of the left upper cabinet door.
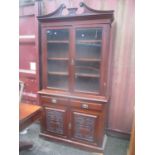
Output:
[[68,89],[69,30],[47,30],[47,84]]

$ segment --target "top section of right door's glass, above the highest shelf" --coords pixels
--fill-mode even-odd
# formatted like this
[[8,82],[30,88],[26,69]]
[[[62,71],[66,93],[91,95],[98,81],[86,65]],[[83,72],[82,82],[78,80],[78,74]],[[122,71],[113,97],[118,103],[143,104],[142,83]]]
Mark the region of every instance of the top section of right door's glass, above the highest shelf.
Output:
[[101,40],[102,29],[101,28],[85,28],[78,29],[76,31],[77,40]]

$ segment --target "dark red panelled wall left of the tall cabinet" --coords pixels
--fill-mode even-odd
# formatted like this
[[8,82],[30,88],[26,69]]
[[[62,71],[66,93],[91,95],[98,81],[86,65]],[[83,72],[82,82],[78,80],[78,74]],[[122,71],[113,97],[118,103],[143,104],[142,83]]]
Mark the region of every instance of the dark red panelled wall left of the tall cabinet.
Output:
[[38,21],[36,18],[38,5],[31,1],[25,4],[21,2],[19,7],[19,79],[24,82],[22,102],[38,104]]

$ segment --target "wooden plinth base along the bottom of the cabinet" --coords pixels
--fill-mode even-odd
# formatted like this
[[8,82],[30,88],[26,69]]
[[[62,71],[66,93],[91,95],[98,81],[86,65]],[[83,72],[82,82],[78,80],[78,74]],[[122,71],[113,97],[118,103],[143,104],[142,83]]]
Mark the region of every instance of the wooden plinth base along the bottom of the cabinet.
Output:
[[77,147],[79,149],[84,149],[84,150],[87,150],[87,151],[102,153],[102,155],[104,155],[103,151],[104,151],[104,147],[105,147],[106,139],[107,139],[106,137],[104,138],[105,140],[103,142],[102,147],[97,147],[97,146],[93,146],[93,145],[88,145],[88,144],[83,144],[83,143],[80,143],[80,142],[68,140],[68,139],[65,139],[65,138],[55,137],[55,136],[52,136],[52,135],[49,135],[49,134],[46,134],[46,133],[40,133],[40,136],[45,138],[45,139],[48,139],[48,140],[62,142],[62,143],[65,143],[65,144],[70,144],[70,145],[75,146],[75,147]]

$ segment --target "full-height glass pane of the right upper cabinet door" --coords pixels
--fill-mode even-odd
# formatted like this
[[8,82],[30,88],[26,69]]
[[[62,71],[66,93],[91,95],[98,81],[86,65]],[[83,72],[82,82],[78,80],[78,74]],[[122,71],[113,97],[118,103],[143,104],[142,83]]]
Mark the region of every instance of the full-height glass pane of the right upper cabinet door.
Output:
[[76,30],[75,89],[99,92],[102,28]]

